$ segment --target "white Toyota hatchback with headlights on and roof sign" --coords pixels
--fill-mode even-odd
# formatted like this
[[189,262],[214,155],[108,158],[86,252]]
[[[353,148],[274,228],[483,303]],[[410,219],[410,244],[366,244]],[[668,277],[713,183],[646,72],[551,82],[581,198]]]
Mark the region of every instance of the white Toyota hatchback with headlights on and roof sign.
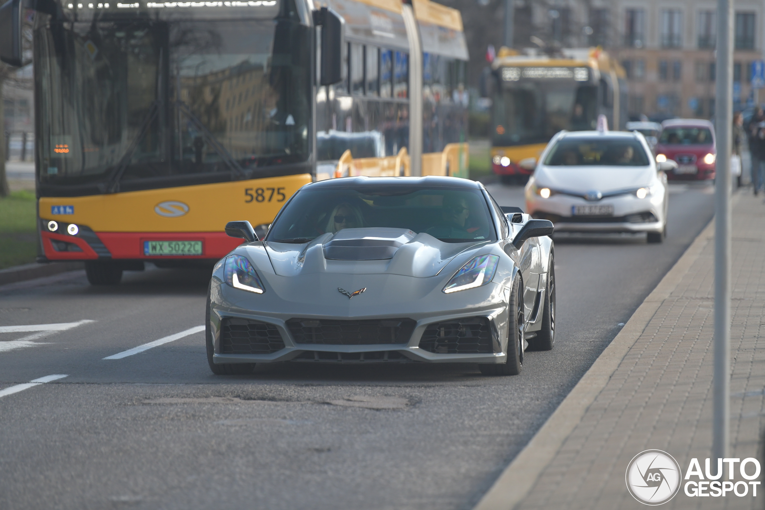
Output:
[[667,178],[673,162],[657,163],[640,132],[559,132],[526,185],[532,217],[556,232],[646,232],[666,235]]

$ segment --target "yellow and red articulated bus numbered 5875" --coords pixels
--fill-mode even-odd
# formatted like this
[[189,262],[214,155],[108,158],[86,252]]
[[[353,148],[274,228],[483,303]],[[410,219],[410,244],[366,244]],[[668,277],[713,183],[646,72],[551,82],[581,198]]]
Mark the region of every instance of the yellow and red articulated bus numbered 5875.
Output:
[[467,177],[467,44],[428,0],[10,0],[34,34],[40,261],[218,260],[308,182]]

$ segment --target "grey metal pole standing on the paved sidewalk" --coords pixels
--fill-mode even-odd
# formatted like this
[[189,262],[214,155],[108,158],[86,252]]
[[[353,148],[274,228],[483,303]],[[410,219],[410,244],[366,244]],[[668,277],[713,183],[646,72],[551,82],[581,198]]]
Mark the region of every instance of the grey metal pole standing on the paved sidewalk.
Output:
[[728,457],[731,348],[731,125],[733,123],[733,2],[718,0],[715,131],[715,371],[712,459]]

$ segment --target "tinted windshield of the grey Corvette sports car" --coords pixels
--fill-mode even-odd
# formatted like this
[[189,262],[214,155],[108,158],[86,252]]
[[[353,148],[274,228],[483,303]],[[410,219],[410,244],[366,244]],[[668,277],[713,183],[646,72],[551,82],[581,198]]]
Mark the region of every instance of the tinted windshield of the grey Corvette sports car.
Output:
[[406,228],[447,243],[496,240],[479,190],[402,185],[301,190],[265,240],[306,243],[327,232],[363,227]]

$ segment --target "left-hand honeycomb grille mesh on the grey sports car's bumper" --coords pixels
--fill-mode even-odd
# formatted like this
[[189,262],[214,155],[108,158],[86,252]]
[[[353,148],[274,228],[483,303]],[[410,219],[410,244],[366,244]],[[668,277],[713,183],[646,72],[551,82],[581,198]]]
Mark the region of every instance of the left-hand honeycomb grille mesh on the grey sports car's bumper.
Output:
[[284,347],[275,325],[235,317],[220,324],[221,354],[271,354]]

